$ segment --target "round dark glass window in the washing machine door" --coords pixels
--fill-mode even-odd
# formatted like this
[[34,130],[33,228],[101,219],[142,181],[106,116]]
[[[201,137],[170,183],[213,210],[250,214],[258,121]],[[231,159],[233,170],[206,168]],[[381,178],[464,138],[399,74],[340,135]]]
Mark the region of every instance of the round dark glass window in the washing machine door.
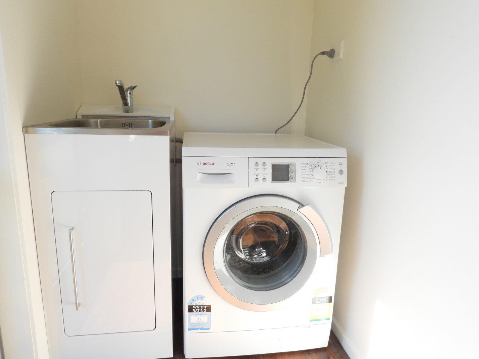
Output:
[[303,232],[291,218],[277,212],[259,212],[229,231],[224,260],[239,285],[269,291],[296,277],[307,250]]

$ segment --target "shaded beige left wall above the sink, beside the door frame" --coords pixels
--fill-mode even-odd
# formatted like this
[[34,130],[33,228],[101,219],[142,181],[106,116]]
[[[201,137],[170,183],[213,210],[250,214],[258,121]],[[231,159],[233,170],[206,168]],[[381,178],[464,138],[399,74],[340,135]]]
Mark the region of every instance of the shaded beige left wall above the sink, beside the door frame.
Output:
[[75,1],[0,5],[12,118],[29,125],[74,117],[81,104]]

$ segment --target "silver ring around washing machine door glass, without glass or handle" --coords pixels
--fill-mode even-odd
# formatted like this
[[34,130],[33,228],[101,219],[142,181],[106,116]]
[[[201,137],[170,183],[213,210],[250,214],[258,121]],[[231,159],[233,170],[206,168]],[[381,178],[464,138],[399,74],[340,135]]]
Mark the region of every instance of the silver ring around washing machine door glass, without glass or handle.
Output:
[[[298,212],[301,203],[279,195],[259,195],[239,201],[221,213],[210,227],[203,248],[206,276],[215,291],[228,303],[251,311],[270,311],[284,306],[311,276],[318,256],[319,240],[308,218]],[[299,273],[285,285],[254,291],[238,284],[228,273],[223,251],[231,228],[242,218],[258,212],[277,212],[290,217],[303,231],[307,244],[306,258]],[[235,295],[231,294],[234,288]]]

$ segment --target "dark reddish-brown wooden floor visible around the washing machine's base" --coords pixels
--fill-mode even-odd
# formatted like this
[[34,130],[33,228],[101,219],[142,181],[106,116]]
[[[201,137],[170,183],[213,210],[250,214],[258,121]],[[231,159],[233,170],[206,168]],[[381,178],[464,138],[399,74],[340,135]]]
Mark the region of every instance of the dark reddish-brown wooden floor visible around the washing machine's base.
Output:
[[[182,320],[182,281],[173,280],[173,358],[184,359]],[[338,338],[331,332],[329,346],[312,350],[290,351],[287,353],[246,355],[232,359],[349,359]]]

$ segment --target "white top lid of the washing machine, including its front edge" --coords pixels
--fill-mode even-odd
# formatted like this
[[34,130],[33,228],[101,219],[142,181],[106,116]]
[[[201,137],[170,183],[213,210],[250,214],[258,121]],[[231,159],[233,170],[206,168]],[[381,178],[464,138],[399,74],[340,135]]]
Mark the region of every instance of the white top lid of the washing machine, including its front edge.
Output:
[[303,135],[186,132],[183,156],[346,157],[346,149]]

